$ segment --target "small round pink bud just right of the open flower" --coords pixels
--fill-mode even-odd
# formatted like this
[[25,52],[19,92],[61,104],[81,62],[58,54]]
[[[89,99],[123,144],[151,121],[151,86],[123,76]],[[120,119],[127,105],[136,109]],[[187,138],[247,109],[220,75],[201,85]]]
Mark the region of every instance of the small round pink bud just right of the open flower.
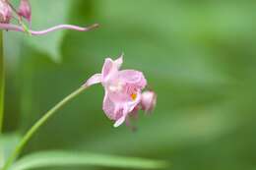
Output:
[[151,112],[157,104],[157,94],[152,91],[144,91],[142,93],[142,98],[141,98],[141,105],[142,105],[142,110],[145,110],[146,112]]

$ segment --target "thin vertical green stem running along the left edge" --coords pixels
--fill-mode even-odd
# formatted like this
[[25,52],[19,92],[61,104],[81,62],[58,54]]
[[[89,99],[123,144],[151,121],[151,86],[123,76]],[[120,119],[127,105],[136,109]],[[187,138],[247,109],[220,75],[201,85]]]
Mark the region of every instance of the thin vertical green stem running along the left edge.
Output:
[[3,48],[3,31],[0,31],[0,134],[3,129],[4,119],[4,92],[5,92],[5,61]]

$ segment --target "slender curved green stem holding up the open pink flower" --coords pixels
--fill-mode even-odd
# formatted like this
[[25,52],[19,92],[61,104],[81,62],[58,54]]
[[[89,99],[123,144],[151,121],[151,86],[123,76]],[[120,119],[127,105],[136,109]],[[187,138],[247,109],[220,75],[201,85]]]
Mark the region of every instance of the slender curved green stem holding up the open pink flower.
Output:
[[12,152],[10,157],[7,159],[4,167],[2,170],[8,170],[10,166],[13,164],[17,156],[20,154],[20,152],[23,150],[24,146],[31,140],[32,136],[38,131],[38,129],[47,122],[47,120],[56,113],[61,107],[63,107],[66,103],[68,103],[70,100],[81,94],[85,89],[87,89],[86,86],[82,86],[72,92],[70,95],[65,97],[63,100],[61,100],[58,104],[56,104],[54,107],[52,107],[48,112],[44,114],[33,126],[32,128],[25,134],[21,142],[18,143],[15,150]]

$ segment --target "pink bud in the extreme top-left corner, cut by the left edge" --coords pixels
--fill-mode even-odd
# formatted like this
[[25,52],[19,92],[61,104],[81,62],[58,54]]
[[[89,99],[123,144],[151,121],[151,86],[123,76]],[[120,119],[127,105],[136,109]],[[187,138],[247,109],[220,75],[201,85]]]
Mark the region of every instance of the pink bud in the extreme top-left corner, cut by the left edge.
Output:
[[7,0],[0,0],[0,23],[9,24],[12,19],[12,8]]

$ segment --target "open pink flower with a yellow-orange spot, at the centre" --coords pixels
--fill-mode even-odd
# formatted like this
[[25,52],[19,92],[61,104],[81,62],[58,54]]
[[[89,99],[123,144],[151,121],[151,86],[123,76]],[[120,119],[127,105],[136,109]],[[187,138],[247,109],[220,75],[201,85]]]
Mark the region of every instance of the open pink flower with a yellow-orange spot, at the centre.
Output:
[[103,111],[114,127],[125,122],[129,113],[141,102],[142,89],[147,81],[142,72],[135,70],[119,70],[123,57],[117,60],[106,58],[101,74],[91,77],[85,86],[101,83],[104,87]]

